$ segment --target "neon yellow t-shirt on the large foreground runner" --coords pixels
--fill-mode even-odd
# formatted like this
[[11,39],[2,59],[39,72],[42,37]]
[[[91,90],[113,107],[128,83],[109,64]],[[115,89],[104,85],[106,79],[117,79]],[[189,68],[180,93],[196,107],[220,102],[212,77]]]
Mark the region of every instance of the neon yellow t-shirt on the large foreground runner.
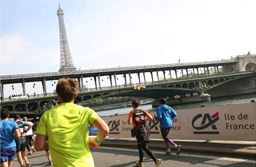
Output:
[[97,118],[93,109],[73,103],[61,103],[41,116],[36,133],[48,135],[54,166],[94,166],[88,126]]

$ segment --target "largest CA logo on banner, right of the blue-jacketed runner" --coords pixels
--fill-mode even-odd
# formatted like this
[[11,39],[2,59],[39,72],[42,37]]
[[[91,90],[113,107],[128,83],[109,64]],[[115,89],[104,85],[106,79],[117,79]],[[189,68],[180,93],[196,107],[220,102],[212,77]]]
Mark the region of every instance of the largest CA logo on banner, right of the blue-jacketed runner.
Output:
[[[201,126],[199,126],[199,127],[195,126],[195,122],[198,119],[200,119],[201,117],[203,117],[202,114],[198,114],[193,118],[192,126],[194,129],[203,130],[203,129],[211,126],[211,128],[213,130],[217,130],[215,123],[219,120],[219,112],[215,113],[212,116],[210,116],[209,114],[204,114],[204,117],[201,122]],[[207,123],[206,123],[206,120],[208,120]],[[219,131],[194,131],[194,134],[219,134]]]

